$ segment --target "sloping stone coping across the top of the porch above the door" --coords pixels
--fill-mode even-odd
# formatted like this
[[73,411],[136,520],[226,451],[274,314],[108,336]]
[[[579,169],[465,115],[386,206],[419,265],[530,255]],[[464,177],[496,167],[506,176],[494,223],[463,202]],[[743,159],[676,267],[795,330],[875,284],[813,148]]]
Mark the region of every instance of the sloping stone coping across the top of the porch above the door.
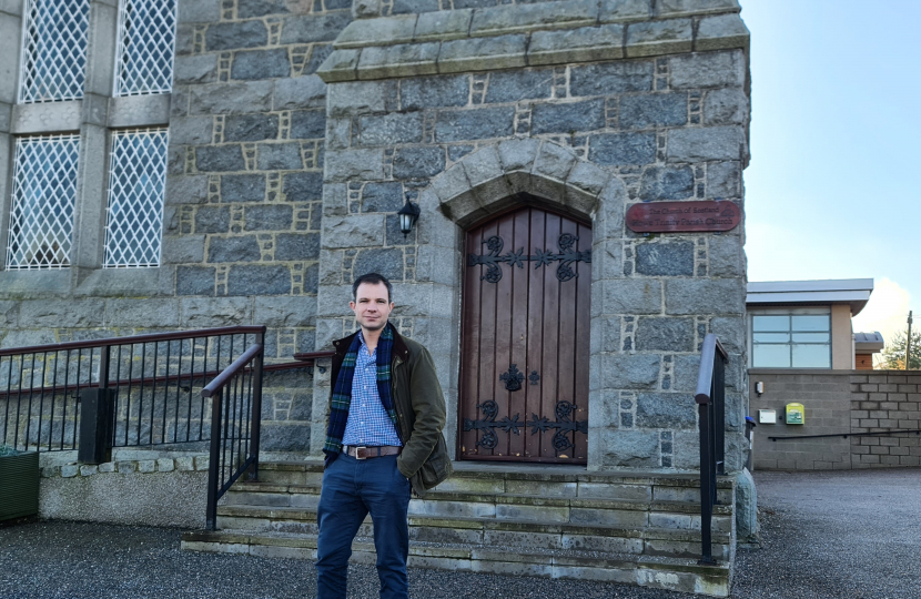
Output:
[[738,0],[564,0],[350,23],[327,83],[711,50],[748,50]]

